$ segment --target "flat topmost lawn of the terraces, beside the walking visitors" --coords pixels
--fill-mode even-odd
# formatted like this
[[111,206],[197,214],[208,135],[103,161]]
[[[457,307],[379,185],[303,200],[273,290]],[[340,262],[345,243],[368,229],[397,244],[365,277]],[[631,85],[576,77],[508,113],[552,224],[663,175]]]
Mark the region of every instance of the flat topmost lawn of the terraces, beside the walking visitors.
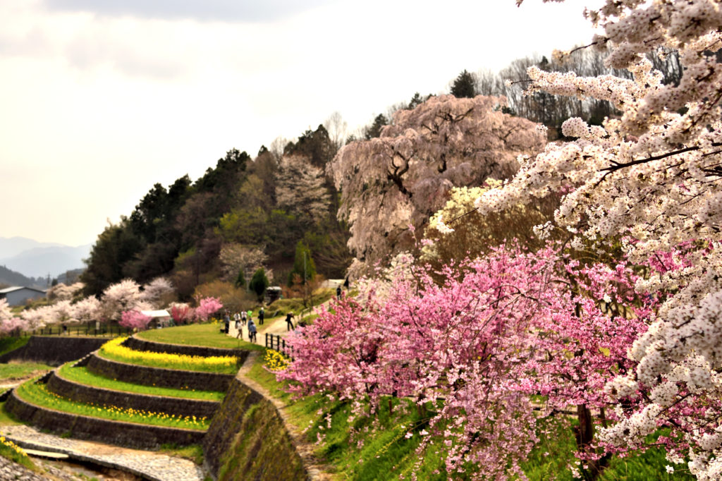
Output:
[[263,350],[264,347],[235,339],[220,332],[222,324],[187,324],[186,326],[150,329],[138,334],[141,339],[165,344],[186,346],[220,347],[222,349]]

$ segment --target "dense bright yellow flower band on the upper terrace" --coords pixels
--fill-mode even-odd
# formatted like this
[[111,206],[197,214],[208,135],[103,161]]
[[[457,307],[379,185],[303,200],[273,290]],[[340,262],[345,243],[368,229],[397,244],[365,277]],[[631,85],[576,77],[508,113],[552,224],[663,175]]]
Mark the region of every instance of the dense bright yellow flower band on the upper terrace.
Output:
[[149,365],[157,368],[183,369],[186,371],[204,371],[233,374],[238,371],[236,358],[230,356],[188,356],[169,354],[168,352],[135,351],[121,346],[127,337],[118,337],[100,347],[100,354],[106,358],[124,363]]

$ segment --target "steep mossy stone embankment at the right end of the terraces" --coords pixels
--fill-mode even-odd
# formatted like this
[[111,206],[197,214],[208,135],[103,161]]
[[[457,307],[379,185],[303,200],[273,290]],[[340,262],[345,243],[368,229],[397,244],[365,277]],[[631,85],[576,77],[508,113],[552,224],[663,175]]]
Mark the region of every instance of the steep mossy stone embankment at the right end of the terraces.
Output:
[[268,399],[235,379],[203,441],[219,481],[307,480],[308,473]]

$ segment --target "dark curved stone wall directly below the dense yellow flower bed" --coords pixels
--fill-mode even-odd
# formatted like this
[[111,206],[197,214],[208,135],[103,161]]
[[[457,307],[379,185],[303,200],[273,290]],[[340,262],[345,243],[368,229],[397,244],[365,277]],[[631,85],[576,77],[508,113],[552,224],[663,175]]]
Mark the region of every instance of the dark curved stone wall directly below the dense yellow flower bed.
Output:
[[100,358],[97,354],[87,361],[88,371],[106,378],[117,379],[144,386],[160,386],[175,389],[196,389],[199,391],[228,390],[235,378],[232,374],[201,373],[198,371],[178,371],[175,369],[149,368],[143,365],[118,363]]

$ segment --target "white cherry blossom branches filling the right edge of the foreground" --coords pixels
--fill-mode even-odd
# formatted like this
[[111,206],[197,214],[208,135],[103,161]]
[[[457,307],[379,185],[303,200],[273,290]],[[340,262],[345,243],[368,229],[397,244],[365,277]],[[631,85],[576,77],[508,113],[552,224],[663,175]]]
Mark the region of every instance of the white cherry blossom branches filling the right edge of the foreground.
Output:
[[[521,3],[521,1],[518,1]],[[635,368],[607,386],[620,422],[604,432],[639,446],[660,426],[670,461],[699,479],[722,473],[722,8],[718,0],[606,0],[587,17],[604,29],[608,66],[632,79],[528,71],[529,92],[609,100],[620,112],[601,126],[562,126],[573,142],[548,144],[502,188],[477,200],[484,212],[565,191],[554,221],[575,243],[624,238],[635,264],[658,257],[638,292],[658,292],[651,326],[630,350]],[[679,51],[679,84],[663,84],[645,54]],[[660,253],[666,255],[661,258]],[[641,393],[641,394],[640,394]],[[625,407],[625,409],[622,409]]]

